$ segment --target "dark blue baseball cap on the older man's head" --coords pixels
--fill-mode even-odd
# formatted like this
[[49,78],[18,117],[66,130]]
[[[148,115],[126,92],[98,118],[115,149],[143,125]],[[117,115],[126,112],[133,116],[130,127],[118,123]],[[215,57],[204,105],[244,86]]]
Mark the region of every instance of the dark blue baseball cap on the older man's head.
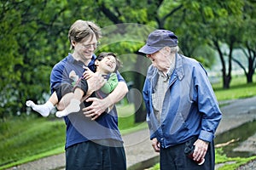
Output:
[[139,49],[143,54],[154,54],[164,47],[177,46],[177,36],[168,30],[155,30],[148,35],[146,44]]

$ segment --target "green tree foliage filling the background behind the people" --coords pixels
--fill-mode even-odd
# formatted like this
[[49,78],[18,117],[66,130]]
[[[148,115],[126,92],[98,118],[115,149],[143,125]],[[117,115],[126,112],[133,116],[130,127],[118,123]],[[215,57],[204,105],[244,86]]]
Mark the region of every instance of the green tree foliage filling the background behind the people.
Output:
[[[249,0],[3,0],[0,117],[26,112],[26,99],[45,100],[50,71],[69,52],[67,31],[79,19],[93,20],[102,27],[102,45],[96,54],[119,54],[125,79],[134,82],[139,91],[149,63],[137,50],[157,28],[174,31],[183,54],[204,65],[214,61],[209,47],[217,51],[229,85],[234,48],[246,49],[248,62],[253,63],[250,68],[255,69],[254,6]],[[230,48],[229,54],[221,49],[223,44]],[[144,121],[143,105],[135,103],[137,121]]]

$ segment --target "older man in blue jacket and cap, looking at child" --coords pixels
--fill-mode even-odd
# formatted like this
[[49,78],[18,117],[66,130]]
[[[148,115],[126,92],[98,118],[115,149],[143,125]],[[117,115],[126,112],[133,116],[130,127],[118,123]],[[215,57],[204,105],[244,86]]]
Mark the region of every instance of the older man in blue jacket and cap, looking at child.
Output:
[[177,36],[166,30],[151,32],[139,50],[152,61],[143,87],[150,139],[162,170],[213,170],[221,111],[202,65],[177,50]]

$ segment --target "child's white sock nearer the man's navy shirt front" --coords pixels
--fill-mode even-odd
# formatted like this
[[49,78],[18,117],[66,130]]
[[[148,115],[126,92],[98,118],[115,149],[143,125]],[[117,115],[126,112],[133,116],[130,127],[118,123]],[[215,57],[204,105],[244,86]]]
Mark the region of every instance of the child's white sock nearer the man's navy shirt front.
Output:
[[67,107],[63,111],[57,111],[55,115],[57,117],[62,117],[62,116],[67,116],[70,113],[78,112],[78,111],[80,111],[80,100],[79,99],[71,99],[70,104],[67,105]]

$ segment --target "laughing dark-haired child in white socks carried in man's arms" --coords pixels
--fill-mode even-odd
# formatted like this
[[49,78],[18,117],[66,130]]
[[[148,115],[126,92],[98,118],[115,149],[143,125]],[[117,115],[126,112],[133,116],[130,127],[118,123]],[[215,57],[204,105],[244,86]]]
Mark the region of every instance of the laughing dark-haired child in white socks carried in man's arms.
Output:
[[[116,71],[120,66],[119,59],[116,58],[116,55],[113,53],[101,53],[96,58],[96,72],[100,73],[102,77],[105,77],[105,83],[101,88],[101,91],[104,94],[110,94],[113,89],[118,85],[118,79],[116,76]],[[84,68],[84,77],[90,77],[93,73],[90,69]],[[63,100],[67,105],[63,111],[57,111],[56,116],[62,117],[67,116],[72,112],[78,112],[80,110],[80,103],[82,100],[86,99],[88,96],[87,92],[87,83],[84,78],[79,78],[79,76],[75,73],[75,71],[71,71],[69,73],[69,78],[73,80],[73,98],[70,99],[70,96],[63,96]],[[101,94],[97,92],[97,94],[102,98]],[[67,99],[65,99],[67,98]],[[56,92],[54,92],[48,99],[48,101],[44,105],[36,105],[32,102],[32,100],[26,101],[26,105],[32,107],[34,111],[37,111],[42,116],[49,116],[49,112],[59,103]]]

